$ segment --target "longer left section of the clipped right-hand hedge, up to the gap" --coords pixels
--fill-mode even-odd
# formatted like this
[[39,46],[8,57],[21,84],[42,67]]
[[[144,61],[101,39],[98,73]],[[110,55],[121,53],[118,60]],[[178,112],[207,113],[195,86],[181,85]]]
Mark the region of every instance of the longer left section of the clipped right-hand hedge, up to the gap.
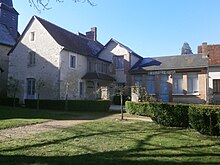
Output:
[[169,127],[188,127],[188,107],[174,103],[126,102],[128,113],[149,116],[158,124]]

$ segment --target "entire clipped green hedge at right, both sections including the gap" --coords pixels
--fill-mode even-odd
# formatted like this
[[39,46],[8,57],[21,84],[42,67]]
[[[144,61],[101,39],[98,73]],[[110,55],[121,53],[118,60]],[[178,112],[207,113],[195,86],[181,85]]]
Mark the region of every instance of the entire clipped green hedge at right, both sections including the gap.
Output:
[[191,126],[202,134],[220,135],[219,106],[128,101],[126,111],[149,116],[164,126]]

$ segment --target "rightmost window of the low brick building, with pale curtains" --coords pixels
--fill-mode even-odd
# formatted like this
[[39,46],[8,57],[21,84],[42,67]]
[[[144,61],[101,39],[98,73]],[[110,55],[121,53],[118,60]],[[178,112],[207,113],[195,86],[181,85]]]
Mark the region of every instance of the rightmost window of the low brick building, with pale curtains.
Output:
[[188,94],[198,94],[199,93],[198,73],[188,74],[187,90],[188,90]]

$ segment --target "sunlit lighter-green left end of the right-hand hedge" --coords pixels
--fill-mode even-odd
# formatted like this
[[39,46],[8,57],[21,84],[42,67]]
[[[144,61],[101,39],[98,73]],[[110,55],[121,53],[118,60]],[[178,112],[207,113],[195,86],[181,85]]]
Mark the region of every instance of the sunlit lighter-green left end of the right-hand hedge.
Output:
[[153,116],[152,104],[150,102],[126,101],[126,112],[141,116]]

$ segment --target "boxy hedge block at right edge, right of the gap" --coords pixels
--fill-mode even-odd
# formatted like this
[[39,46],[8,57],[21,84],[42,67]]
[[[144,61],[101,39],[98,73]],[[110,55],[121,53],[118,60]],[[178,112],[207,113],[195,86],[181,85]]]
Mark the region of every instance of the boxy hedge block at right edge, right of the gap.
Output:
[[220,107],[193,105],[189,107],[192,128],[205,135],[220,135]]

